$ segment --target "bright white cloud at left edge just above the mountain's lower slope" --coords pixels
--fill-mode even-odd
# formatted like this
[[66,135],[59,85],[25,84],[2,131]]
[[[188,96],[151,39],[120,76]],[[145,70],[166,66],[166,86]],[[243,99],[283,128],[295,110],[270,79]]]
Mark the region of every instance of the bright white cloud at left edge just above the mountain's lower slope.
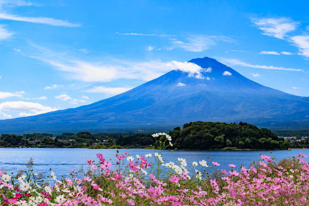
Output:
[[31,116],[56,111],[58,109],[56,107],[43,106],[39,103],[18,101],[0,103],[0,110],[20,111],[19,116]]

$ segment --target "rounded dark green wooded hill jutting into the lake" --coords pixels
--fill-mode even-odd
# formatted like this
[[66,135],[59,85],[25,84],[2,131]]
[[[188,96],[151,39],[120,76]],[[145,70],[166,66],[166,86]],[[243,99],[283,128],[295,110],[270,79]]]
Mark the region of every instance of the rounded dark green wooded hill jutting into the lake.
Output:
[[289,142],[279,140],[270,130],[239,122],[190,122],[183,129],[169,132],[173,148],[178,149],[287,149]]

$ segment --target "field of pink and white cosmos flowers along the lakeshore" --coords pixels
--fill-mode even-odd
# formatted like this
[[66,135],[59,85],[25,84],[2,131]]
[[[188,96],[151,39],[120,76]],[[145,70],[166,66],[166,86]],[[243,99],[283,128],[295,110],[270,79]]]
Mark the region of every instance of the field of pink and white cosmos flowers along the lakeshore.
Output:
[[[209,157],[187,164],[165,162],[162,150],[171,144],[165,133],[153,134],[159,145],[154,153],[115,154],[116,167],[98,153],[87,170],[72,170],[67,177],[35,174],[30,160],[17,174],[0,170],[0,204],[3,206],[103,206],[103,205],[309,205],[309,165],[300,153],[280,162],[266,155],[250,168],[220,163]],[[172,155],[173,151],[171,151]],[[150,163],[154,155],[155,161]],[[111,159],[109,159],[111,160]],[[206,172],[208,167],[211,173]],[[236,169],[237,168],[237,169]],[[80,178],[82,175],[82,178]],[[78,178],[79,177],[79,178]]]

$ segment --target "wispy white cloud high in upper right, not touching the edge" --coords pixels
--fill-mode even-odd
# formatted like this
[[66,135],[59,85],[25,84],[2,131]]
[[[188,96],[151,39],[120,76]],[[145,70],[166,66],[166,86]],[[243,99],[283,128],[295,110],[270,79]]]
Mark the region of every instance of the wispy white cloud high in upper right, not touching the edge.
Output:
[[287,18],[269,18],[269,19],[254,19],[251,18],[251,21],[259,26],[259,29],[262,30],[264,35],[274,36],[279,39],[284,39],[286,34],[294,31],[298,22],[294,22]]

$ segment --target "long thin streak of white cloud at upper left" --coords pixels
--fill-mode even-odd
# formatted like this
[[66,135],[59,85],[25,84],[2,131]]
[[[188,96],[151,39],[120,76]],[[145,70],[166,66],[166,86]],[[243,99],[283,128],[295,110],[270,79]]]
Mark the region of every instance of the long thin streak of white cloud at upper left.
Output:
[[13,21],[23,21],[23,22],[31,22],[31,23],[42,23],[42,24],[48,24],[52,26],[60,26],[60,27],[80,27],[80,23],[72,24],[70,22],[59,20],[59,19],[53,19],[48,17],[23,17],[18,15],[10,15],[6,13],[0,14],[0,19],[7,19],[7,20],[13,20]]

